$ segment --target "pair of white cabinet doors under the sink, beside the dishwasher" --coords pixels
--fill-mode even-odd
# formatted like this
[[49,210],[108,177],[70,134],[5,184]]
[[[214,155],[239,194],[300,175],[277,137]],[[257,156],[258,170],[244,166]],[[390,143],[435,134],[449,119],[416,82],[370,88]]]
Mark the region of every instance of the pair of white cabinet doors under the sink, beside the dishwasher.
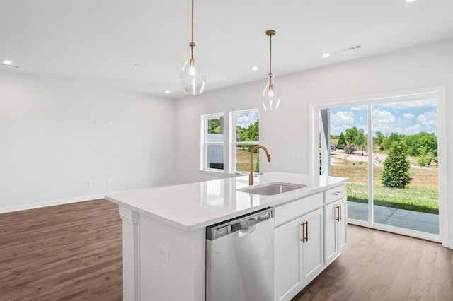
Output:
[[275,228],[275,300],[291,300],[324,267],[323,208]]

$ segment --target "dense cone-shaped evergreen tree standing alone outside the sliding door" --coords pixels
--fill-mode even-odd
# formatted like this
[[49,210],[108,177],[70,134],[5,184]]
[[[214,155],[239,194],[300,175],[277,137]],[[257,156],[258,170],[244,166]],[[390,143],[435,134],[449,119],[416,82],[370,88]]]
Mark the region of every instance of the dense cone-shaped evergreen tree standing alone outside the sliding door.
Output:
[[391,144],[389,155],[384,160],[384,170],[381,173],[382,184],[386,187],[404,188],[411,182],[407,160],[408,147],[404,141],[398,140]]

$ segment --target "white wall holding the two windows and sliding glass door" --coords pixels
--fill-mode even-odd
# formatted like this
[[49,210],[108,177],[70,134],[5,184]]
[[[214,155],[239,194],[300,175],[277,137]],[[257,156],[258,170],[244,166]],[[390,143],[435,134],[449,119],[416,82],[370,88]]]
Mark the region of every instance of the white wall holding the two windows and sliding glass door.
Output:
[[[453,116],[453,94],[449,93],[453,90],[452,53],[453,39],[449,39],[289,76],[278,76],[275,62],[276,85],[282,100],[277,111],[260,110],[260,143],[268,147],[272,158],[270,163],[261,163],[260,168],[264,172],[309,172],[309,102],[446,85],[447,117]],[[207,178],[198,171],[199,163],[195,160],[200,153],[200,114],[260,108],[264,85],[265,74],[258,83],[176,101],[176,120],[184,126],[183,132],[176,132],[176,163],[182,176],[179,182]],[[453,132],[452,118],[447,118],[447,132]],[[451,136],[447,138],[447,149],[447,177],[451,182]],[[452,187],[447,195],[453,201]],[[453,220],[453,206],[447,210]],[[453,225],[449,226],[449,240],[453,242]]]

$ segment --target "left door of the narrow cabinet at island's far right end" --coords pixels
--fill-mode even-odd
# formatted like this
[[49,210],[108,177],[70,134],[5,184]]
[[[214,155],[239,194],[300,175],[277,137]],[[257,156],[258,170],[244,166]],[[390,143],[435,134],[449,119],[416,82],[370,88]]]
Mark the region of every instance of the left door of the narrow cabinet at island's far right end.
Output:
[[338,216],[338,209],[337,203],[329,203],[324,207],[324,218],[326,220],[325,223],[325,251],[326,251],[326,264],[330,264],[333,259],[336,259],[338,255],[338,248],[337,248],[337,223],[336,220]]

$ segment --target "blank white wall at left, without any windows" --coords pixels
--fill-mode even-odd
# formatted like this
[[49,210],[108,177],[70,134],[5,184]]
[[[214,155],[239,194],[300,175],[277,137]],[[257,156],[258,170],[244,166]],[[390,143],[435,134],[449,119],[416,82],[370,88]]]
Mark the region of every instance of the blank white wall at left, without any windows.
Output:
[[0,71],[0,212],[172,183],[174,109],[174,100]]

